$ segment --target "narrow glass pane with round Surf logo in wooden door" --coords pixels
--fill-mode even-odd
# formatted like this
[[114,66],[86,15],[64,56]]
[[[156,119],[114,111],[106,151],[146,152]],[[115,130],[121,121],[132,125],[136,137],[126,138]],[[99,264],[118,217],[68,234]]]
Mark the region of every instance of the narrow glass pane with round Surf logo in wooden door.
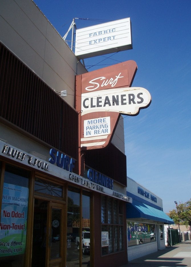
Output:
[[60,257],[61,210],[52,208],[51,235],[49,236],[50,258]]

